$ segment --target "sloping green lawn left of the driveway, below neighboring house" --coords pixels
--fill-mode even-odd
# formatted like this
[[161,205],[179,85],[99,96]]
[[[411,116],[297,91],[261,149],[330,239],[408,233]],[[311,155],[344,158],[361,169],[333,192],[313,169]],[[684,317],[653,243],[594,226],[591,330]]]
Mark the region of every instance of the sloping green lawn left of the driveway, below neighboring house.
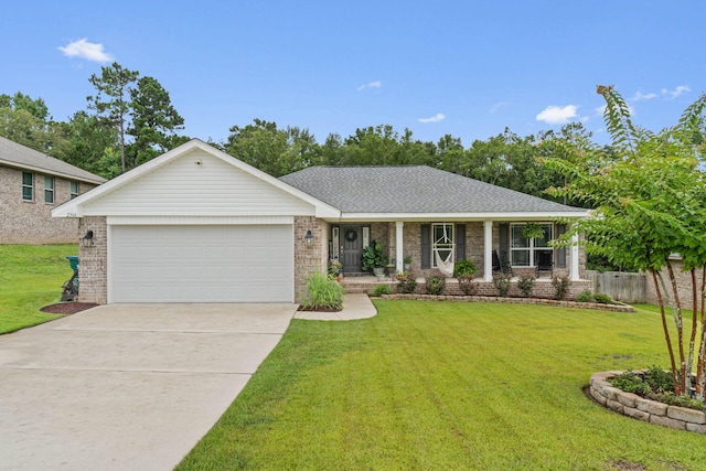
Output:
[[72,276],[65,257],[77,251],[76,245],[0,245],[0,334],[60,317],[40,308],[58,302]]

